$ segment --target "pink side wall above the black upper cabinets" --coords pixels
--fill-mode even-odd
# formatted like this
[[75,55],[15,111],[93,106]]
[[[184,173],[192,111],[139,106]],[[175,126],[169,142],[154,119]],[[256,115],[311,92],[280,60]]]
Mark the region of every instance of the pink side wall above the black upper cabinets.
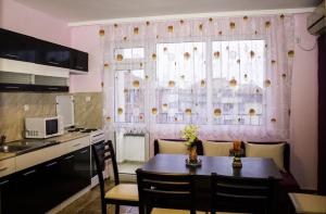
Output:
[[70,46],[67,24],[13,0],[0,0],[0,27]]

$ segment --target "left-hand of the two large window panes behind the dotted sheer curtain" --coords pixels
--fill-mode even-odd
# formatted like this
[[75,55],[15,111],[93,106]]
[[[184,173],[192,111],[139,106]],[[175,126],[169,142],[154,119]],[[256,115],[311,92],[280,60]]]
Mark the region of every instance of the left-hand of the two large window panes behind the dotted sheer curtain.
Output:
[[156,54],[156,123],[206,123],[205,43],[158,43]]

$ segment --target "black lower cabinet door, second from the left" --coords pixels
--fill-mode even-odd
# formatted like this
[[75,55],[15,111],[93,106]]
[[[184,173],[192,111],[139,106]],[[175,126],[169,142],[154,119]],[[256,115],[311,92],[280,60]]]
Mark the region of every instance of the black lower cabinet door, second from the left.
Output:
[[15,203],[17,213],[43,213],[43,198],[46,192],[42,188],[46,180],[42,179],[41,166],[34,166],[16,174]]

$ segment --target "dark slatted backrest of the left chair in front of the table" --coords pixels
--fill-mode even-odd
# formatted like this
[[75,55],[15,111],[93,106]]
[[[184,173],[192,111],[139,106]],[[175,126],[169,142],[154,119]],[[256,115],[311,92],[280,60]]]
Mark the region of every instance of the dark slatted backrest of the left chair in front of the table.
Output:
[[188,174],[156,174],[136,171],[139,214],[150,213],[153,207],[189,210],[196,213],[193,176]]

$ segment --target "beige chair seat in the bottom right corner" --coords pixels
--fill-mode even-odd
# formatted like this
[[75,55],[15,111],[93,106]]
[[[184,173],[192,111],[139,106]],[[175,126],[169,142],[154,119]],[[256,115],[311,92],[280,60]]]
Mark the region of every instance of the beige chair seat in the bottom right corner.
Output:
[[326,213],[326,197],[289,193],[297,213]]

